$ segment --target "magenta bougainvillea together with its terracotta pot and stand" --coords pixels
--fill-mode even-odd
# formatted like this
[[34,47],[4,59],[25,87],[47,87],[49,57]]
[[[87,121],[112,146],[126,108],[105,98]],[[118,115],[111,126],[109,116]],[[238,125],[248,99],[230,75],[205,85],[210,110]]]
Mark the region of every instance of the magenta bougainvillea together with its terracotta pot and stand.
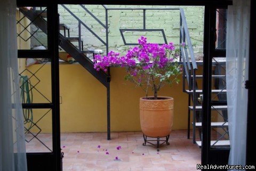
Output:
[[[147,43],[146,37],[138,40],[139,46],[130,48],[126,55],[110,51],[107,56],[96,55],[94,68],[107,71],[108,67],[125,67],[126,80],[142,87],[146,96],[140,98],[140,124],[144,135],[169,137],[173,124],[173,98],[158,96],[166,84],[179,83],[181,66],[178,64],[179,49],[173,43],[158,45]],[[148,96],[151,89],[154,96]],[[158,142],[159,143],[159,142]],[[167,143],[167,140],[166,140]],[[145,140],[146,144],[146,140]]]

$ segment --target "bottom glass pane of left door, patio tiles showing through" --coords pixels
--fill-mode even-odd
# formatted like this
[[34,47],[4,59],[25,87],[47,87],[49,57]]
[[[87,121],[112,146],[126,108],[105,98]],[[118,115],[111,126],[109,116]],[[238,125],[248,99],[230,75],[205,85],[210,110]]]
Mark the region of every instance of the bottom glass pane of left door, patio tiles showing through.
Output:
[[27,152],[52,152],[52,110],[23,109]]

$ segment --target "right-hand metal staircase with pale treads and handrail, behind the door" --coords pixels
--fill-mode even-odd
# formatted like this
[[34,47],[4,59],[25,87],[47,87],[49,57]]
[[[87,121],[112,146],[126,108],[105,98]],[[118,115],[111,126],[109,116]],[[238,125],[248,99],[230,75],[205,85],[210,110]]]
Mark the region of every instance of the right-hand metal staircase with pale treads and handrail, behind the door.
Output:
[[[197,66],[203,66],[203,61],[196,61],[191,44],[189,31],[186,23],[186,18],[183,10],[180,10],[180,61],[183,63],[183,92],[188,94],[188,139],[190,139],[190,125],[193,126],[193,143],[196,143],[200,148],[202,146],[201,141],[196,141],[196,129],[199,131],[199,139],[202,139],[202,100],[203,90],[198,89],[197,79],[203,79],[203,75],[197,75]],[[224,58],[225,59],[225,58]],[[221,70],[225,71],[225,60],[213,59],[214,69],[212,80],[214,81],[214,87],[212,88],[212,100],[219,101],[218,105],[212,105],[212,111],[216,111],[217,115],[222,119],[211,122],[212,132],[215,129],[222,129],[219,136],[215,137],[216,140],[211,141],[211,146],[219,148],[221,146],[228,146],[229,140],[225,139],[228,136],[228,119],[227,119],[227,96],[226,96],[226,75],[221,73]],[[186,84],[187,82],[187,84]],[[190,120],[190,114],[192,112],[192,122]],[[221,120],[221,121],[219,121]],[[223,140],[224,139],[224,140]]]

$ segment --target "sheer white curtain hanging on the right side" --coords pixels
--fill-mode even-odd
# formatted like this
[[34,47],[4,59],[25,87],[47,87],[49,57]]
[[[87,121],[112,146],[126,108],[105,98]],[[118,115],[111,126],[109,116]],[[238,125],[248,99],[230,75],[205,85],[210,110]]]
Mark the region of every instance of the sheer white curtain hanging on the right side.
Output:
[[245,165],[250,0],[233,0],[227,17],[229,165]]

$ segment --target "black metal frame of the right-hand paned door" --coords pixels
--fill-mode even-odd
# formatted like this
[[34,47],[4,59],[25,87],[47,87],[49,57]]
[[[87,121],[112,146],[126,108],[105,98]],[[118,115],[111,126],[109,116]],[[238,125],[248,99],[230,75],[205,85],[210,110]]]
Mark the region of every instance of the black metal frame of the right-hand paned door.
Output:
[[[226,56],[226,52],[215,50],[216,10],[227,5],[206,5],[204,18],[204,58],[203,58],[203,113],[202,115],[202,165],[227,165],[230,148],[211,148],[211,106],[227,105],[226,102],[212,102],[212,58]],[[216,103],[216,104],[215,104]],[[218,104],[217,104],[218,103]],[[223,103],[223,104],[220,104]],[[224,104],[225,103],[225,104]]]

